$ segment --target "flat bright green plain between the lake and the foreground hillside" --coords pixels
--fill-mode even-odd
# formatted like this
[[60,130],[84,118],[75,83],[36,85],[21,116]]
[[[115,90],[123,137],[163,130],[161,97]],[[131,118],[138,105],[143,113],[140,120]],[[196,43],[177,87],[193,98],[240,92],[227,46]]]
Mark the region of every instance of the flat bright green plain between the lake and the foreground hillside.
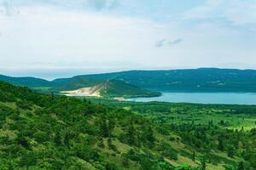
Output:
[[165,124],[202,124],[250,130],[256,127],[256,105],[200,105],[165,102],[131,102],[90,98],[92,102],[113,105]]

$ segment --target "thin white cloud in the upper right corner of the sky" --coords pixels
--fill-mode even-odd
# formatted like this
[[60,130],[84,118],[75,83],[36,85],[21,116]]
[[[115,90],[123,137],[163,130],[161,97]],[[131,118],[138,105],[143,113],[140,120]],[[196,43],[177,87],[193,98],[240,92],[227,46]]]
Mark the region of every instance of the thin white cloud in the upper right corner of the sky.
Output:
[[256,0],[207,0],[183,14],[183,19],[225,19],[235,25],[256,24]]

